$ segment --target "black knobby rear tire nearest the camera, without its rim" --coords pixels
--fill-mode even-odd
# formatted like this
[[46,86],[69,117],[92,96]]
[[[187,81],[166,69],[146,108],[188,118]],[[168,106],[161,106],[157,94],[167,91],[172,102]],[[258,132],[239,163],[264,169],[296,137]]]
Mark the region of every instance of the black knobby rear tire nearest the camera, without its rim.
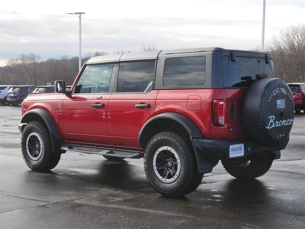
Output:
[[[173,148],[181,160],[181,172],[176,180],[165,183],[160,180],[153,166],[156,151],[163,146]],[[200,184],[203,174],[198,172],[196,156],[182,136],[173,132],[160,132],[149,140],[144,152],[145,174],[152,187],[165,196],[183,196],[194,191]]]

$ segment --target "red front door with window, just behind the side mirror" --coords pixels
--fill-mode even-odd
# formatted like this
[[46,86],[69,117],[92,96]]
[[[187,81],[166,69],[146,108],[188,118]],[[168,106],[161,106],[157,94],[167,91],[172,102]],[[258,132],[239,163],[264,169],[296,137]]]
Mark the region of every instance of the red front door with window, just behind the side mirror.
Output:
[[109,144],[107,111],[113,64],[87,65],[63,102],[66,141]]

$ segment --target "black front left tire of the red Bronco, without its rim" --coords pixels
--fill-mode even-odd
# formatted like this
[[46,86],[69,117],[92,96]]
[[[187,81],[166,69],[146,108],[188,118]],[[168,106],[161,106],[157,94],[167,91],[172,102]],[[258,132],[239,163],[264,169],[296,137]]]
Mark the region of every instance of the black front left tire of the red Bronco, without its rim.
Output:
[[[26,146],[27,137],[33,132],[41,137],[43,143],[41,157],[37,161],[29,157]],[[45,127],[37,121],[31,121],[24,127],[21,135],[21,152],[27,166],[34,171],[47,171],[55,168],[61,156],[60,153],[52,153],[51,137]]]

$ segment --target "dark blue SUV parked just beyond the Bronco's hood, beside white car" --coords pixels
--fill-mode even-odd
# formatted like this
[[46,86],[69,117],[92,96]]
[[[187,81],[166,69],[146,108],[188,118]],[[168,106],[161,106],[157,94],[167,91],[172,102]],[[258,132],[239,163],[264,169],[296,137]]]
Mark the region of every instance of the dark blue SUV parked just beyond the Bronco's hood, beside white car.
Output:
[[17,106],[21,104],[29,93],[33,92],[37,86],[35,85],[21,85],[13,86],[9,89],[7,94],[7,102]]

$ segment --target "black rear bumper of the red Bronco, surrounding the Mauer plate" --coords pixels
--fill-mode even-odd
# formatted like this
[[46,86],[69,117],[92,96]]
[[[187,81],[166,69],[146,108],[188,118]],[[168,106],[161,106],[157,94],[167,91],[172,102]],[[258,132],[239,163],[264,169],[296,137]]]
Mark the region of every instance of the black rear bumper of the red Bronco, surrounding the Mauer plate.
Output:
[[[217,165],[219,160],[234,160],[249,157],[251,154],[260,154],[262,157],[278,159],[281,157],[281,150],[285,149],[289,142],[289,136],[282,145],[271,147],[257,147],[247,139],[193,139],[198,162],[198,170],[201,173],[209,173]],[[244,155],[230,158],[230,145],[243,144]]]

